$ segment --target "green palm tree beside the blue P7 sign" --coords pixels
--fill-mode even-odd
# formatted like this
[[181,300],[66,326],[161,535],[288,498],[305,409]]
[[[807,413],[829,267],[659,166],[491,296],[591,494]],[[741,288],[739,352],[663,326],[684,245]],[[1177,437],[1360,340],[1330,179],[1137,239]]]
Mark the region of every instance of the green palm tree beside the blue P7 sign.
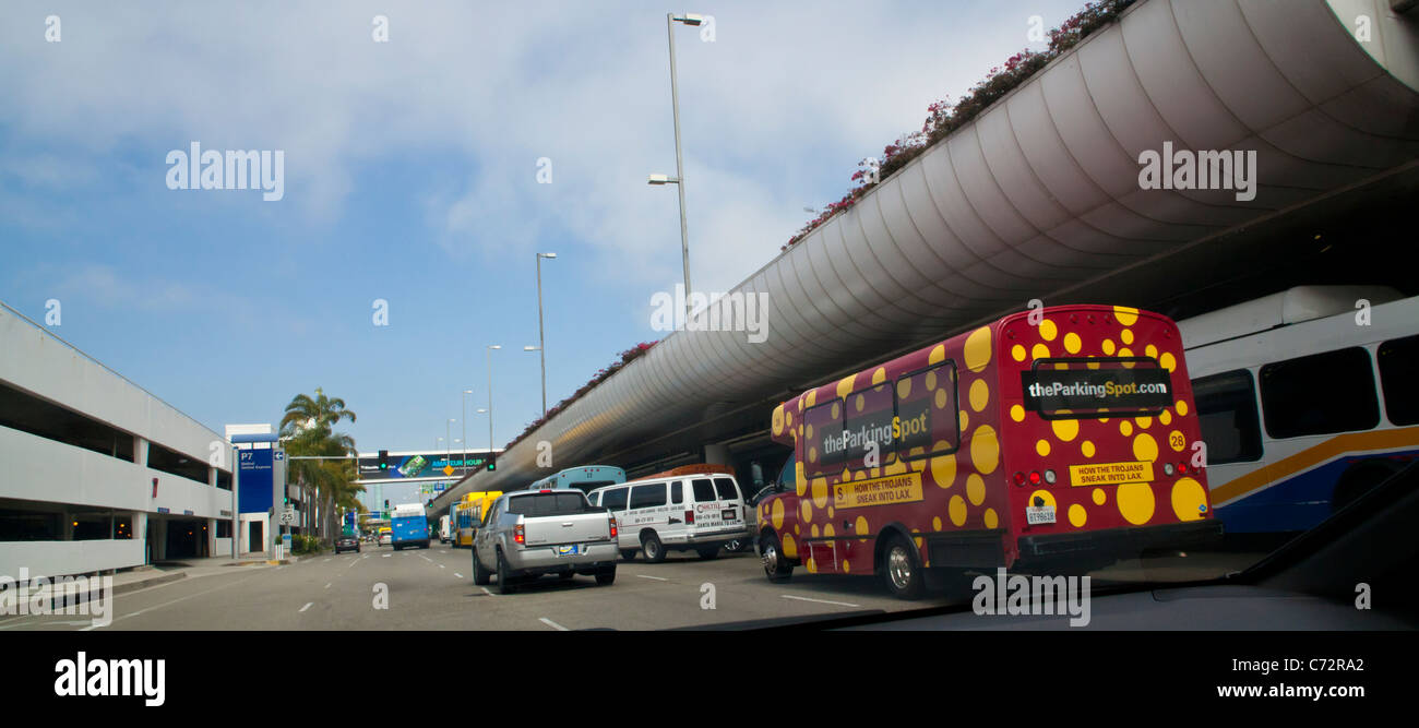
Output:
[[[319,387],[315,397],[297,395],[285,406],[285,416],[281,417],[281,439],[285,450],[292,456],[324,456],[341,458],[356,456],[355,440],[336,433],[335,424],[348,419],[355,421],[355,413],[345,407],[345,400],[326,397]],[[288,480],[301,485],[307,502],[301,508],[304,521],[302,529],[319,531],[321,536],[329,541],[333,532],[335,507],[355,500],[355,494],[365,490],[355,484],[359,478],[353,463],[349,460],[291,460],[288,465]],[[322,515],[316,522],[315,507]],[[316,528],[318,526],[318,528]]]

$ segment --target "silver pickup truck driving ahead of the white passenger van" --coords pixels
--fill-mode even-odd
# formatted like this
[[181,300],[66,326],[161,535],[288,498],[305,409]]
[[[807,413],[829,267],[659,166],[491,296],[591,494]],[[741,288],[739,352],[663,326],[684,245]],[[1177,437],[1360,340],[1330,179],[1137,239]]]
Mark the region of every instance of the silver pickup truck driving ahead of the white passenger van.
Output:
[[498,576],[508,595],[522,580],[556,573],[616,580],[616,517],[586,502],[578,490],[514,491],[488,509],[473,535],[473,583]]

